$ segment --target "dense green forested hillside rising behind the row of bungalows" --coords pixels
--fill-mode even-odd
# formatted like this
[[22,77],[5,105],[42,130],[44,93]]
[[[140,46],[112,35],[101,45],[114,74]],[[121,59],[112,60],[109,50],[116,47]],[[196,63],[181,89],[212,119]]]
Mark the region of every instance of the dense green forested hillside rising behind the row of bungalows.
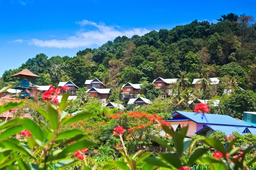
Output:
[[40,75],[37,85],[57,85],[60,81],[72,80],[82,87],[86,79],[98,78],[117,92],[126,82],[179,78],[182,71],[186,71],[186,77],[192,82],[209,69],[209,77],[235,77],[241,88],[255,90],[255,58],[254,18],[230,13],[222,15],[216,24],[195,20],[141,37],[116,37],[98,49],[79,51],[75,57],[49,58],[46,54],[37,54],[19,68],[5,71],[0,86],[12,84],[15,80],[10,76],[24,68]]

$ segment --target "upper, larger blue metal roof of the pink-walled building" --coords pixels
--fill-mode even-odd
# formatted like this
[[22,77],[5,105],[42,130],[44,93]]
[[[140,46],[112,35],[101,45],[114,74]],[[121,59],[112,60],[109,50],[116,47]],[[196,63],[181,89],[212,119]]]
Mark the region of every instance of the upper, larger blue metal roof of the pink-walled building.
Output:
[[[219,115],[219,114],[208,114],[208,113],[195,113],[195,112],[186,112],[186,111],[175,111],[172,113],[172,117],[175,118],[178,114],[184,116],[187,119],[190,119],[196,123],[205,123],[205,124],[215,124],[215,125],[232,125],[232,126],[250,126],[239,121],[228,115]],[[169,121],[172,121],[169,120]]]

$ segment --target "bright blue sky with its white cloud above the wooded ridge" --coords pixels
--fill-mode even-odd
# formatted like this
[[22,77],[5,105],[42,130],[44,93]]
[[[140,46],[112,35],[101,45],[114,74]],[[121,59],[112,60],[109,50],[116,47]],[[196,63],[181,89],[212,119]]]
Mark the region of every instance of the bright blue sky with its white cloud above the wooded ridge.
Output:
[[76,55],[117,36],[143,35],[230,12],[256,17],[253,0],[0,0],[0,77],[27,59]]

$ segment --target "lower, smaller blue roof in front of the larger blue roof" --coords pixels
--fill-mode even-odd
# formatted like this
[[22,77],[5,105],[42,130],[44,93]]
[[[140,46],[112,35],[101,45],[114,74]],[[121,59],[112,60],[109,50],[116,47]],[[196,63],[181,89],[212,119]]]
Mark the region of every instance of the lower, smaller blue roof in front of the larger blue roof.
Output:
[[202,129],[198,130],[196,133],[200,132],[201,130],[203,130],[205,128],[210,128],[215,132],[216,131],[221,131],[221,132],[225,133],[226,135],[231,135],[231,134],[233,134],[233,132],[238,132],[240,134],[246,134],[246,133],[243,133],[243,132],[247,127],[245,127],[245,126],[242,127],[242,126],[206,125]]

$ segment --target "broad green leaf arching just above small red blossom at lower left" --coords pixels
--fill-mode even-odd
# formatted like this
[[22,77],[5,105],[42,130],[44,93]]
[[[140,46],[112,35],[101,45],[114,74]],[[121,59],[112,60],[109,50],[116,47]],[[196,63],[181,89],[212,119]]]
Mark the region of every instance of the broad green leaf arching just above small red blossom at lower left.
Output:
[[26,130],[29,130],[35,138],[42,142],[44,141],[44,133],[38,124],[28,118],[18,119],[18,121],[26,128]]

